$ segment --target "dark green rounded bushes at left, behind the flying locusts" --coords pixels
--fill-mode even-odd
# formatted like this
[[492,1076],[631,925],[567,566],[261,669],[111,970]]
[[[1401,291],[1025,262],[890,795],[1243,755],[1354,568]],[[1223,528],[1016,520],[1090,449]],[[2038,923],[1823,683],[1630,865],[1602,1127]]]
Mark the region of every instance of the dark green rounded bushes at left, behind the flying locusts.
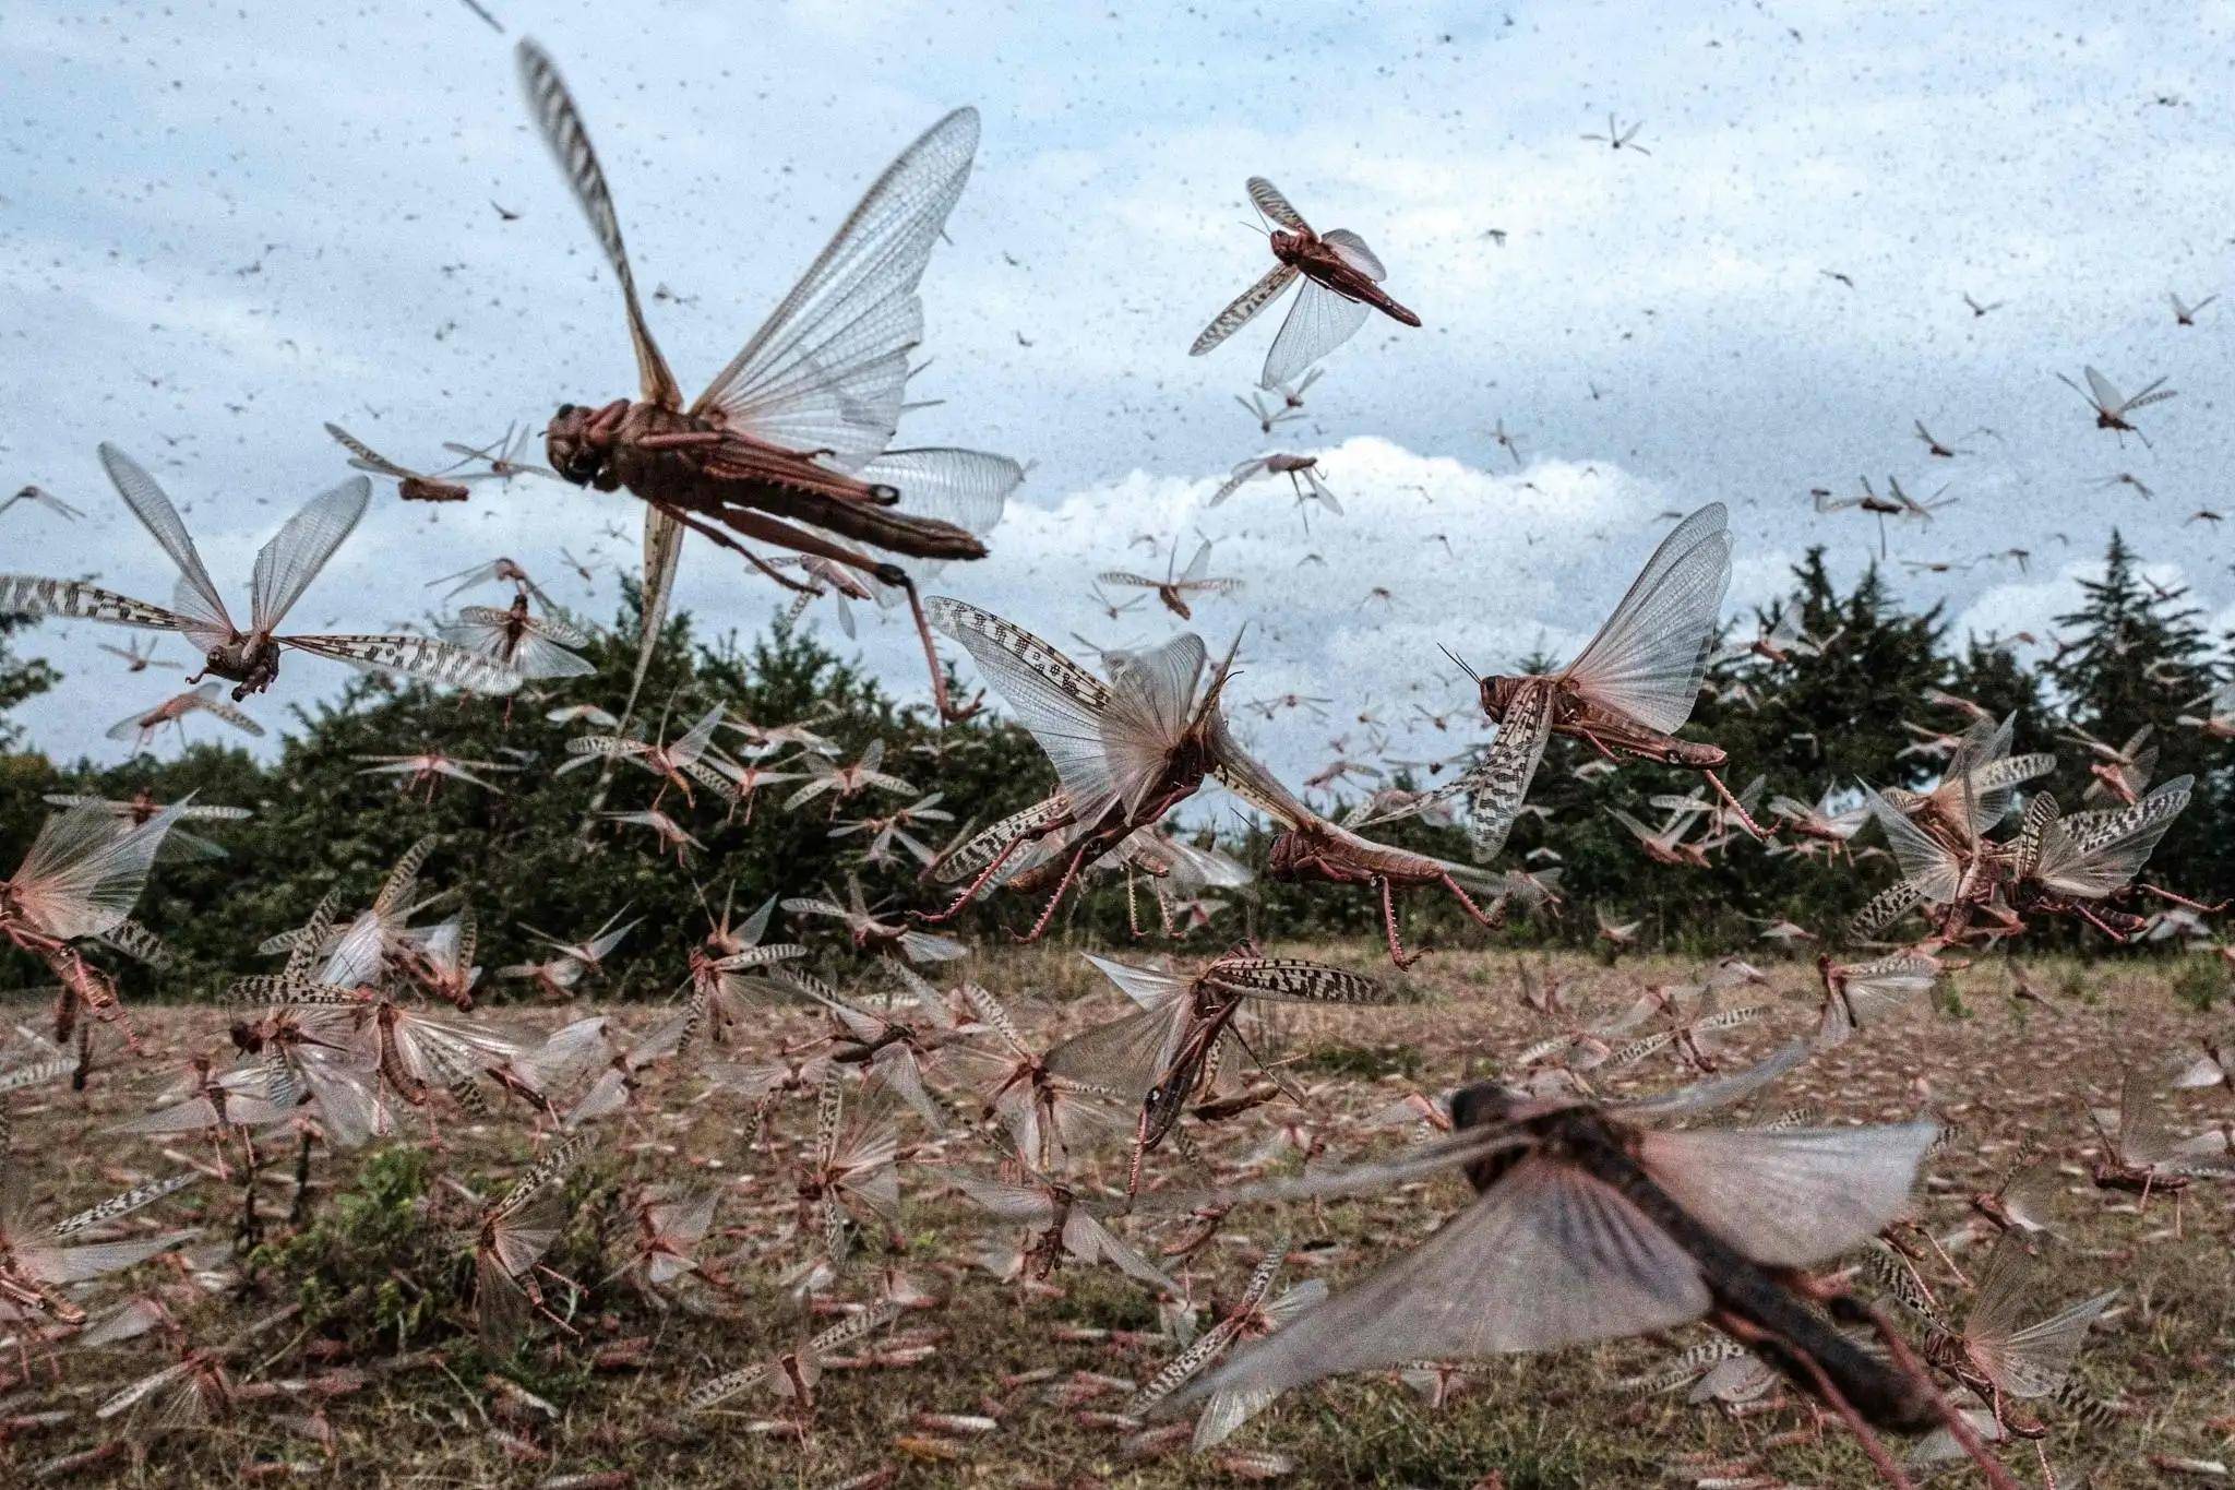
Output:
[[[485,967],[543,956],[525,927],[572,940],[633,907],[644,925],[617,954],[615,981],[586,992],[664,996],[682,978],[688,947],[706,932],[702,887],[715,911],[726,894],[735,894],[738,916],[773,894],[836,887],[845,898],[845,873],[867,838],[834,840],[831,827],[892,811],[910,797],[856,797],[836,818],[825,797],[787,813],[778,804],[798,782],[780,782],[760,795],[746,822],[742,811],[724,818],[722,804],[704,789],[695,804],[668,791],[659,809],[706,844],[704,853],[693,853],[688,871],[679,871],[648,829],[590,818],[599,800],[608,811],[653,806],[659,782],[617,766],[601,791],[595,762],[559,775],[559,766],[574,760],[565,742],[597,730],[545,719],[559,704],[597,704],[619,715],[635,663],[633,634],[635,617],[624,612],[617,632],[590,650],[597,677],[570,679],[572,686],[548,697],[523,693],[510,719],[503,701],[398,688],[384,677],[355,679],[340,701],[297,715],[295,730],[268,768],[241,751],[217,746],[192,746],[168,762],[139,757],[123,766],[80,764],[72,771],[54,771],[38,757],[13,757],[11,768],[0,773],[0,824],[7,842],[27,842],[49,811],[38,800],[49,791],[125,797],[145,786],[165,802],[197,791],[203,802],[255,809],[250,822],[206,824],[208,838],[228,849],[226,858],[165,858],[150,880],[139,916],[161,927],[181,954],[181,967],[163,983],[174,996],[215,996],[228,978],[266,967],[253,956],[253,945],[299,925],[333,885],[346,889],[351,905],[369,902],[396,858],[425,833],[438,835],[440,844],[422,871],[422,894],[443,896],[425,916],[472,905]],[[943,791],[945,806],[959,818],[952,827],[963,827],[961,820],[986,824],[1044,795],[1055,780],[1033,739],[1012,724],[981,715],[941,730],[928,708],[896,706],[809,634],[773,625],[751,646],[724,639],[702,648],[693,643],[688,621],[675,619],[646,681],[637,728],[677,735],[713,704],[755,724],[805,719],[840,746],[843,760],[883,739],[885,771],[925,793]],[[744,751],[742,737],[731,730],[722,730],[717,742],[731,753]],[[398,777],[362,775],[367,762],[358,760],[434,748],[458,760],[519,764],[521,771],[489,775],[501,795],[445,780],[427,802],[422,791],[398,791]],[[941,824],[928,824],[919,838],[936,847],[945,833]],[[905,856],[885,869],[860,869],[860,876],[872,902],[930,907],[943,900],[934,887],[916,885],[916,865]],[[1001,914],[1017,911],[1001,907]],[[972,927],[966,920],[963,927],[974,934],[986,923]],[[787,936],[829,940],[834,925],[782,929]],[[22,972],[27,978],[29,963]],[[127,996],[150,987],[145,970],[125,976]],[[527,987],[485,978],[483,994],[505,999]]]

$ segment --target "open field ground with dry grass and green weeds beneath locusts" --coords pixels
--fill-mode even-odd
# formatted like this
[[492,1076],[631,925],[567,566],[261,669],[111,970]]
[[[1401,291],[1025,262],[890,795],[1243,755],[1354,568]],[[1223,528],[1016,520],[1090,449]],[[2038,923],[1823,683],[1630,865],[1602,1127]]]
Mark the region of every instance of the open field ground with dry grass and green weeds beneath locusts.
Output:
[[[1368,970],[1357,949],[1283,949],[1328,956]],[[1118,996],[1068,952],[1017,952],[959,965],[1017,1007],[1035,1034],[1118,1012]],[[1220,1177],[1292,1173],[1299,1144],[1325,1146],[1314,1164],[1383,1153],[1421,1128],[1366,1126],[1363,1119],[1406,1092],[1437,1092],[1497,1070],[1500,1061],[1547,1030],[1522,1007],[1520,963],[1506,954],[1446,952],[1415,974],[1430,1001],[1397,1010],[1310,1012],[1263,1034],[1305,1088],[1307,1112],[1274,1101],[1216,1126],[1193,1126]],[[1542,981],[1544,965],[1529,961]],[[1652,981],[1678,981],[1696,967],[1623,961],[1564,961],[1571,1007],[1618,1005]],[[1768,987],[1737,990],[1730,1001],[1770,1001],[1772,1012],[1737,1030],[1730,1059],[1759,1052],[1806,1030],[1815,1019],[1815,974],[1806,963],[1766,963]],[[1792,1079],[1741,1108],[1734,1121],[1766,1121],[1795,1104],[1826,1121],[1906,1119],[1929,1104],[1958,1126],[1953,1142],[1927,1162],[1915,1193],[1918,1217],[1947,1235],[1967,1215],[1967,1197],[1989,1188],[2020,1139],[2054,1153],[2058,1222],[2067,1242],[2043,1269],[2049,1293],[2041,1314],[2105,1287],[2119,1298],[2079,1358],[2079,1381],[2117,1403],[2108,1427],[2083,1427],[2049,1405],[2043,1448],[2056,1483],[2155,1486],[2166,1470],[2150,1454],[2197,1461],[2235,1459],[2235,1211],[2228,1188],[2197,1184],[2181,1209],[2152,1197],[2137,1213],[2132,1195],[2096,1191],[2087,1164],[2096,1139],[2083,1106],[2117,1099],[2119,1063],[2163,1066],[2195,1052],[2197,1037],[2226,1032],[2226,1014],[2206,1014],[2179,999],[2163,963],[2029,963],[2029,987],[2049,1003],[2012,999],[2005,963],[1985,963],[1942,985],[1940,1010],[1911,1010],[1886,1025],[1815,1059]],[[952,978],[945,978],[952,983]],[[498,1010],[505,1028],[554,1028],[581,1010]],[[633,1030],[662,1010],[615,1007]],[[20,1016],[31,1019],[29,1010]],[[16,1186],[34,1197],[34,1215],[56,1217],[181,1159],[210,1166],[203,1135],[174,1142],[105,1137],[105,1128],[156,1104],[145,1074],[174,1070],[199,1052],[219,1052],[219,1010],[141,1007],[136,1023],[150,1045],[143,1063],[96,1070],[80,1097],[67,1086],[16,1099]],[[266,1222],[264,1251],[248,1269],[230,1238],[241,1188],[215,1175],[152,1206],[134,1224],[199,1224],[194,1267],[159,1260],[110,1284],[94,1305],[130,1289],[159,1289],[170,1314],[197,1345],[232,1338],[246,1325],[291,1302],[288,1316],[230,1356],[230,1421],[170,1434],[152,1445],[114,1448],[83,1472],[85,1483],[239,1483],[241,1477],[340,1474],[349,1483],[639,1483],[639,1486],[836,1486],[890,1470],[867,1483],[901,1486],[1202,1486],[1276,1477],[1294,1486],[1692,1486],[1792,1483],[1860,1486],[1871,1472],[1837,1425],[1813,1432],[1813,1414],[1781,1407],[1728,1419],[1685,1403],[1685,1392],[1645,1394],[1614,1383],[1665,1363],[1676,1347],[1708,1338],[1625,1340],[1598,1349],[1491,1363],[1462,1378],[1453,1398],[1430,1410],[1392,1376],[1370,1376],[1307,1389],[1247,1423],[1223,1450],[1189,1456],[1185,1436],[1142,1441],[1091,1414],[1124,1405],[1118,1381],[1144,1381],[1176,1354],[1160,1334],[1155,1298],[1113,1269],[1066,1264],[1046,1284],[1006,1284],[972,1267],[979,1240],[995,1229],[943,1188],[939,1166],[990,1171],[990,1148],[966,1133],[974,1106],[957,1104],[963,1124],[945,1139],[910,1124],[914,1153],[901,1168],[905,1253],[858,1255],[827,1300],[865,1300],[885,1282],[885,1267],[923,1298],[865,1358],[831,1369],[800,1439],[778,1416],[755,1421],[762,1405],[738,1405],[691,1419],[682,1398],[717,1369],[800,1340],[800,1305],[782,1287],[807,1255],[793,1233],[793,1197],[784,1150],[814,1126],[814,1104],[793,1099],[771,1115],[753,1146],[751,1108],[726,1092],[708,1095],[706,1061],[751,1059],[776,1045],[798,1045],[820,1021],[798,1010],[771,1012],[751,1043],[697,1048],[653,1066],[628,1110],[599,1124],[599,1148],[577,1173],[574,1222],[552,1251],[554,1264],[586,1284],[570,1314],[579,1338],[541,1325],[514,1360],[483,1358],[469,1331],[460,1247],[447,1231],[467,1224],[474,1206],[458,1186],[494,1193],[532,1153],[521,1106],[498,1106],[474,1121],[438,1110],[443,1150],[416,1171],[409,1153],[364,1150],[313,1164],[311,1226],[317,1247],[291,1251],[286,1211],[295,1188],[293,1146],[275,1142],[257,1186]],[[1654,1057],[1629,1068],[1609,1090],[1670,1086],[1683,1072]],[[936,1086],[936,1081],[934,1081]],[[2179,1097],[2179,1133],[2231,1117],[2226,1092]],[[407,1115],[409,1133],[425,1119]],[[165,1157],[165,1150],[177,1157]],[[418,1150],[413,1150],[418,1153]],[[235,1157],[237,1162],[237,1157]],[[1122,1186],[1122,1162],[1106,1157],[1100,1175]],[[1200,1175],[1198,1175],[1200,1179]],[[628,1200],[641,1184],[720,1186],[724,1202],[702,1260],[722,1262],[735,1296],[684,1280],[655,1300],[615,1269],[628,1255]],[[1144,1184],[1193,1184],[1167,1146]],[[380,1191],[375,1200],[375,1188]],[[416,1200],[413,1200],[416,1195]],[[1401,1186],[1370,1200],[1254,1206],[1231,1213],[1207,1247],[1171,1269],[1198,1305],[1231,1300],[1261,1251],[1276,1235],[1290,1262],[1281,1280],[1325,1278],[1341,1287],[1370,1260],[1430,1231],[1457,1209],[1457,1179]],[[152,1217],[152,1220],[150,1220]],[[387,1222],[387,1229],[384,1229]],[[1155,1255],[1196,1229],[1187,1217],[1118,1222]],[[1958,1262],[1978,1253],[1958,1253]],[[304,1284],[306,1260],[324,1271]],[[1927,1278],[1944,1300],[1962,1284],[1942,1262]],[[1484,1289],[1495,1289],[1484,1271]],[[1868,1287],[1868,1284],[1862,1284]],[[463,1327],[463,1329],[460,1329]],[[814,1327],[820,1327],[814,1325]],[[928,1347],[928,1349],[907,1349]],[[4,1401],[9,1414],[69,1407],[67,1421],[0,1419],[0,1474],[25,1483],[63,1456],[96,1450],[118,1436],[116,1421],[92,1410],[174,1354],[161,1334],[121,1347],[58,1343],[51,1358],[31,1345],[20,1360],[38,1376]],[[58,1385],[49,1381],[58,1372]],[[534,1401],[492,1385],[498,1376]],[[306,1385],[308,1383],[308,1385]],[[1100,1385],[1097,1385],[1100,1383]],[[966,1432],[919,1414],[990,1419]],[[1082,1416],[1086,1414],[1086,1416]],[[123,1430],[139,1432],[139,1430]],[[331,1434],[331,1436],[329,1436]],[[329,1448],[322,1445],[322,1439]],[[2043,1483],[2032,1445],[2009,1445],[2007,1463],[2025,1483]],[[599,1477],[608,1479],[568,1479]],[[1761,1477],[1748,1479],[1748,1477]],[[2206,1481],[2197,1481],[2206,1483]]]

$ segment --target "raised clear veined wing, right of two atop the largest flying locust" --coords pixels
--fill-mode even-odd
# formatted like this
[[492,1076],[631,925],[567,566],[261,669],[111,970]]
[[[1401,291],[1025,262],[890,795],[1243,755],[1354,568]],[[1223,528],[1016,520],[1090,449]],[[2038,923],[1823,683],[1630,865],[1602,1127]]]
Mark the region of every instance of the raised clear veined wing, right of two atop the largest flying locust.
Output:
[[753,340],[691,404],[733,429],[856,471],[901,420],[923,340],[916,284],[977,154],[977,109],[954,109],[876,179]]

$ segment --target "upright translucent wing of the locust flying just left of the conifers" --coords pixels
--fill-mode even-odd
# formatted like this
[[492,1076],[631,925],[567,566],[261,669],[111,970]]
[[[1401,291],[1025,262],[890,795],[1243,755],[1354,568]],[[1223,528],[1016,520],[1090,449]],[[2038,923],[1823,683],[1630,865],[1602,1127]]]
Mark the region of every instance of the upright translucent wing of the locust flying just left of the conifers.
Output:
[[1730,585],[1723,503],[1708,503],[1661,541],[1629,594],[1567,666],[1594,704],[1672,735],[1692,717]]

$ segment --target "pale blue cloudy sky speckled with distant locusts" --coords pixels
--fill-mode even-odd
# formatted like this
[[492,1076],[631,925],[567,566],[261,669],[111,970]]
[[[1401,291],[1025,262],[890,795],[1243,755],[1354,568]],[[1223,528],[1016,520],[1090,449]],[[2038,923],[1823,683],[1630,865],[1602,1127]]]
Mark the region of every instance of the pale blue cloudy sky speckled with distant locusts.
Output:
[[[2228,538],[2195,518],[2235,516],[2235,302],[2195,326],[2168,306],[2217,293],[2235,243],[2235,121],[2210,107],[2228,4],[489,9],[505,36],[458,0],[9,7],[0,489],[38,483],[87,516],[0,514],[0,567],[168,599],[101,440],[165,483],[246,594],[257,545],[349,474],[324,420],[425,467],[445,440],[633,391],[612,277],[519,98],[507,51],[530,34],[581,103],[639,281],[662,286],[648,311],[686,393],[910,139],[977,105],[910,389],[941,402],[903,440],[1001,451],[1028,480],[992,556],[925,588],[1059,646],[1153,643],[1171,617],[1111,619],[1093,574],[1162,572],[1211,538],[1211,572],[1245,583],[1193,623],[1214,650],[1247,623],[1231,697],[1328,699],[1238,710],[1283,771],[1477,739],[1437,646],[1484,670],[1578,646],[1663,514],[1728,503],[1732,614],[1815,543],[1851,579],[1873,518],[1817,514],[1808,489],[1862,476],[1953,498],[1895,525],[1889,563],[1958,637],[2045,637],[2112,527],[2235,623]],[[1609,114],[1643,121],[1632,147],[1582,139]],[[1236,398],[1278,311],[1187,355],[1272,264],[1247,174],[1363,235],[1424,322],[1370,319],[1272,436]],[[2148,447],[2058,382],[2085,364],[2179,391],[2137,416]],[[1933,458],[1915,420],[1965,453]],[[1283,478],[1207,509],[1272,449],[1316,453],[1343,516],[1303,514]],[[639,514],[559,483],[440,509],[382,483],[293,621],[427,623],[427,581],[498,554],[608,621]],[[2027,567],[1987,558],[2014,547]],[[749,632],[782,599],[693,543],[677,605]],[[127,637],[22,634],[65,672],[22,710],[38,746],[123,757],[101,730],[174,677],[96,648]],[[159,650],[183,661],[177,639]],[[898,617],[858,650],[898,697],[925,693]],[[284,726],[344,679],[297,657],[250,708]]]

